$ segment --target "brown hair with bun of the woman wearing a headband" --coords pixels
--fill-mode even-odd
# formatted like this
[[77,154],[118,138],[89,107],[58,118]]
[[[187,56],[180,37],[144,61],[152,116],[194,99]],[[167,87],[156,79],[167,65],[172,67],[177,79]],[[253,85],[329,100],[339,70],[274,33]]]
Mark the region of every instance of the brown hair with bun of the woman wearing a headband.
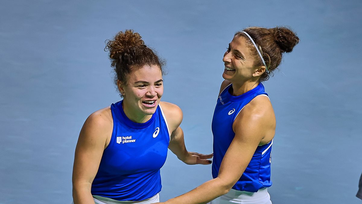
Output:
[[[266,81],[270,76],[273,76],[273,71],[277,69],[282,61],[282,53],[292,52],[294,46],[299,42],[298,36],[296,36],[291,29],[286,27],[269,29],[249,27],[245,28],[243,31],[247,32],[256,43],[257,49],[259,49],[262,54],[267,66],[268,71],[260,76],[260,81]],[[251,50],[256,59],[254,66],[264,66],[249,37],[245,33],[242,33],[242,31],[236,32],[235,36],[243,36],[249,47],[253,48]]]

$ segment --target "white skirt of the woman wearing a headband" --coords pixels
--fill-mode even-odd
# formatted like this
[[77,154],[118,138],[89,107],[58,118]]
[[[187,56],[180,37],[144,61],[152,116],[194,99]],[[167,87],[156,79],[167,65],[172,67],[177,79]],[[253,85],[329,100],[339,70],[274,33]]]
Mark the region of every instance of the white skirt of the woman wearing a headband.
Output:
[[222,195],[208,204],[271,204],[270,195],[266,188],[252,193],[247,191],[237,191],[231,189],[225,195]]

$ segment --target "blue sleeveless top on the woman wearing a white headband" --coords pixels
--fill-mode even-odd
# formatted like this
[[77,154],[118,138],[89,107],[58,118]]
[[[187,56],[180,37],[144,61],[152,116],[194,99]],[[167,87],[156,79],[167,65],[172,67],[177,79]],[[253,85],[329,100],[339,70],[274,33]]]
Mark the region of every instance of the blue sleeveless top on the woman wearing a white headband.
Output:
[[[239,96],[233,96],[231,93],[232,85],[227,86],[222,91],[216,103],[214,116],[212,118],[211,128],[214,136],[214,158],[212,160],[213,178],[218,176],[221,162],[235,136],[235,132],[232,130],[232,124],[236,116],[241,109],[257,95],[264,94],[268,96],[264,91],[262,83],[259,83],[254,89]],[[248,167],[232,189],[257,192],[261,188],[271,186],[270,162],[272,143],[273,141],[256,148]]]

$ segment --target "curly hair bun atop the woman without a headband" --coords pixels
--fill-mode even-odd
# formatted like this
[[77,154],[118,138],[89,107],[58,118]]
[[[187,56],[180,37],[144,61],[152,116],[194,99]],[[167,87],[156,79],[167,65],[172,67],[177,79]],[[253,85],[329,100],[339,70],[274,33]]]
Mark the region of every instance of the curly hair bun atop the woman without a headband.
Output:
[[[133,30],[125,30],[125,32],[118,32],[113,40],[106,41],[106,52],[109,51],[109,58],[111,60],[119,60],[119,55],[126,52],[129,48],[145,46],[144,41],[141,39],[139,33],[134,33]],[[112,66],[114,63],[112,63]]]

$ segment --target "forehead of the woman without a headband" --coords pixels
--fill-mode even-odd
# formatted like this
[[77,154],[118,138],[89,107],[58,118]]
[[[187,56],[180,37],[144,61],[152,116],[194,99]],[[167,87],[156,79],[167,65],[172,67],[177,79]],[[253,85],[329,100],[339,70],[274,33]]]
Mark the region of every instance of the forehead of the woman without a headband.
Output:
[[162,72],[157,65],[144,65],[142,67],[135,67],[132,72],[127,76],[127,82],[148,81],[155,82],[162,79]]

